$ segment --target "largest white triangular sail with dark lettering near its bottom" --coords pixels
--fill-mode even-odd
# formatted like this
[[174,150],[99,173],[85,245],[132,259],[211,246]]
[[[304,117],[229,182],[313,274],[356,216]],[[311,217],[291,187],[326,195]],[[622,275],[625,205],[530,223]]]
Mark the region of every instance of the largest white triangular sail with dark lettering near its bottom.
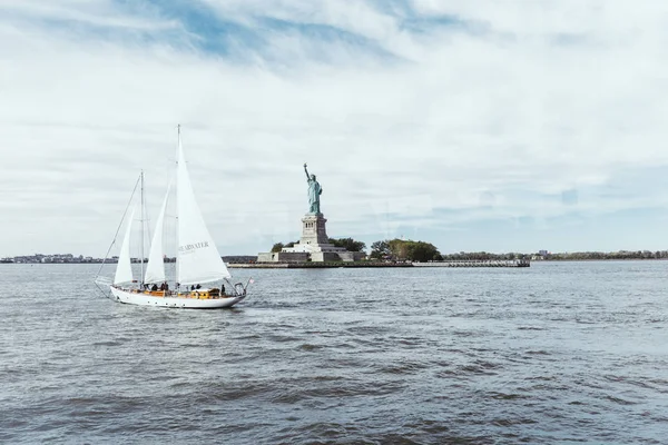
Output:
[[220,258],[216,244],[206,228],[199,206],[195,201],[180,135],[177,166],[177,216],[178,276],[176,280],[181,285],[193,285],[229,278],[229,271]]

